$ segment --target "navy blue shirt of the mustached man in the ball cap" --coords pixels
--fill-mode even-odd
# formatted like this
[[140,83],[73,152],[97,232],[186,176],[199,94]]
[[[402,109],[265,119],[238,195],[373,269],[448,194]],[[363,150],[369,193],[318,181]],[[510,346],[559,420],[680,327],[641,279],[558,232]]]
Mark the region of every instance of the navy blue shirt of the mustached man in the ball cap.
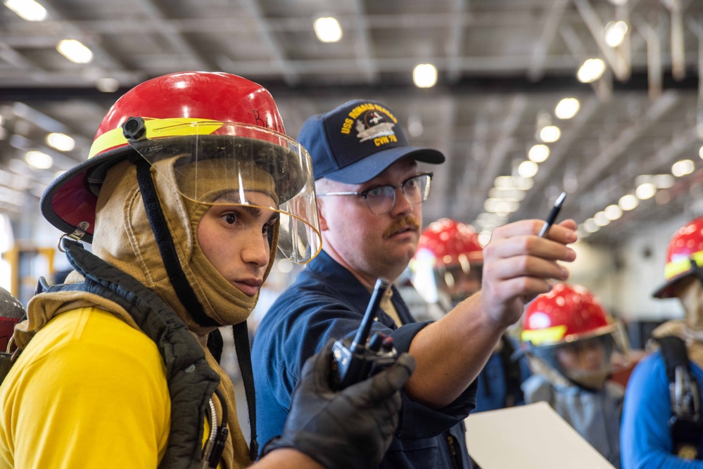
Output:
[[[260,448],[281,434],[305,359],[331,338],[353,336],[370,298],[353,274],[322,251],[264,316],[251,354]],[[398,352],[407,352],[427,323],[413,322],[394,287],[393,306],[405,326],[396,328],[379,311],[372,334],[380,330],[391,335]],[[452,404],[433,410],[403,395],[400,425],[379,467],[471,468],[463,420],[474,409],[475,397],[476,386],[471,385]]]

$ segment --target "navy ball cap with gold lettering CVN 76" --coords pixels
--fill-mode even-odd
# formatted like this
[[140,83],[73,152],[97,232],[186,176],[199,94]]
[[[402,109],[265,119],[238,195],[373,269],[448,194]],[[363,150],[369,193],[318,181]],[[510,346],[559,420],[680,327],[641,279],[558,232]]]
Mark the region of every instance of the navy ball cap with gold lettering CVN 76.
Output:
[[310,117],[298,142],[312,157],[316,181],[362,184],[406,156],[435,165],[445,160],[438,150],[409,146],[388,106],[361,99]]

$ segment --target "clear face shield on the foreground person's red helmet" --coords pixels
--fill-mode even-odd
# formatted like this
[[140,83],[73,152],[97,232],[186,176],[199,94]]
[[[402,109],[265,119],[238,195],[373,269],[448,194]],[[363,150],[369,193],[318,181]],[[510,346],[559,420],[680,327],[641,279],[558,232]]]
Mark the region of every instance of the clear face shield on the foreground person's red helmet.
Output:
[[[122,127],[122,138],[157,177],[174,181],[183,198],[278,212],[279,250],[298,264],[319,253],[312,163],[297,141],[264,127],[212,120],[136,117]],[[253,204],[248,197],[252,191],[268,195],[270,206]]]

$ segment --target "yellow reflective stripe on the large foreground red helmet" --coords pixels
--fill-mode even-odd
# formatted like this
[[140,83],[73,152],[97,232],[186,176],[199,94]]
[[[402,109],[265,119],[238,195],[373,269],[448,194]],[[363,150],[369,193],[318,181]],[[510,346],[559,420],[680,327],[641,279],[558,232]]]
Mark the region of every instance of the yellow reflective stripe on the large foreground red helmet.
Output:
[[[173,119],[154,119],[144,117],[146,138],[172,137],[185,135],[208,135],[222,127],[222,122],[216,120],[198,119],[188,117],[175,117]],[[99,136],[90,147],[88,158],[93,158],[99,153],[116,146],[127,145],[127,139],[122,134],[122,127],[106,131]]]

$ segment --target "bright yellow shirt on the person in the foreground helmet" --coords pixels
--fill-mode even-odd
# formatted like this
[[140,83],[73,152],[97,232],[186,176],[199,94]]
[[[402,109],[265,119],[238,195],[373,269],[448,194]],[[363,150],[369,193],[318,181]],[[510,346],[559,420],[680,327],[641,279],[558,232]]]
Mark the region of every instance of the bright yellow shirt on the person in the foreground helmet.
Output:
[[171,400],[156,344],[92,307],[58,314],[0,386],[0,468],[153,469]]

